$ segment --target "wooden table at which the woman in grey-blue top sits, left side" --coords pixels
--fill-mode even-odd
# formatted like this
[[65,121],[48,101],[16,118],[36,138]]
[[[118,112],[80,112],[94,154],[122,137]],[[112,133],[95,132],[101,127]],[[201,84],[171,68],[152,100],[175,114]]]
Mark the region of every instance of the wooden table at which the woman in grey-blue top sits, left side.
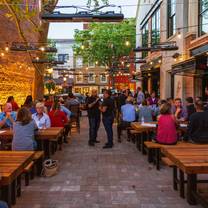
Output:
[[[51,143],[58,143],[58,139],[63,134],[63,127],[50,127],[47,129],[38,130],[37,135],[35,135],[35,139],[38,142],[38,150],[44,150],[45,156],[50,157],[50,148]],[[1,147],[4,148],[5,143],[8,141],[12,141],[13,139],[13,131],[11,129],[3,129],[0,131],[0,141]],[[54,149],[54,148],[53,148]]]

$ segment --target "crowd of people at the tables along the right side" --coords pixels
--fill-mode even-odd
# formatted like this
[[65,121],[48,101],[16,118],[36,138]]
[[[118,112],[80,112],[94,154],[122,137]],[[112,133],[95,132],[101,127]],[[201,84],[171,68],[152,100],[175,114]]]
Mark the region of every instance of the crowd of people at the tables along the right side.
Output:
[[[124,103],[125,100],[125,103]],[[117,97],[118,106],[118,141],[121,142],[121,131],[131,126],[131,122],[157,121],[156,142],[175,144],[181,137],[197,143],[208,143],[208,111],[201,98],[194,101],[187,97],[183,104],[181,98],[160,100],[156,93],[144,94],[138,87],[135,95],[125,90]],[[177,127],[187,123],[186,133],[179,133]]]

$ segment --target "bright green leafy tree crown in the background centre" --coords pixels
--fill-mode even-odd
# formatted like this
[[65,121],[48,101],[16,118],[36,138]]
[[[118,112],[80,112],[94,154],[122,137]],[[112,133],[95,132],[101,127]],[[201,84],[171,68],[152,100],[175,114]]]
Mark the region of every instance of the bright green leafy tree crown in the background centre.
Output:
[[92,23],[88,30],[75,31],[73,50],[76,56],[83,57],[85,63],[98,62],[111,67],[112,62],[130,54],[135,41],[134,19],[116,24]]

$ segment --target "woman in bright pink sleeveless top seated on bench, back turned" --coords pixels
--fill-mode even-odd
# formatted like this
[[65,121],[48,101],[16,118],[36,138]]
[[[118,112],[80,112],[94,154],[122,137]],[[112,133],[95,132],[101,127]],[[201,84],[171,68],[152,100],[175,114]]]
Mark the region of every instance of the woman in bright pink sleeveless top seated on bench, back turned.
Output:
[[175,116],[171,114],[171,105],[169,103],[161,105],[156,141],[160,144],[177,143],[176,120]]

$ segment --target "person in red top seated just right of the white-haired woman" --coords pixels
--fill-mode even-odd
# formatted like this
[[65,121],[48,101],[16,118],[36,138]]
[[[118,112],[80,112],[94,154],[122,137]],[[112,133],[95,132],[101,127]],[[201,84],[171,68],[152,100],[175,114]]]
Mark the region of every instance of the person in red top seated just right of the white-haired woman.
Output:
[[68,119],[66,114],[60,110],[60,104],[54,102],[52,110],[48,113],[51,120],[51,127],[64,127]]

